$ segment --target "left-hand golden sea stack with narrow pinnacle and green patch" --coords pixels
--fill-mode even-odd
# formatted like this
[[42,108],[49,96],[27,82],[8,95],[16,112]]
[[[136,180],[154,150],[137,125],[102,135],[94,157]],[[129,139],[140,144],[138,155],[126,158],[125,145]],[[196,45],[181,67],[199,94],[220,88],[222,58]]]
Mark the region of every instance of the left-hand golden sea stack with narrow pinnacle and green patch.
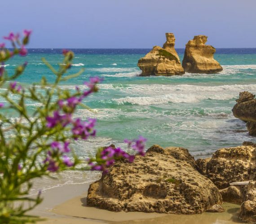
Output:
[[142,70],[141,76],[184,74],[185,72],[181,66],[174,44],[174,35],[166,33],[166,43],[163,44],[163,48],[154,46],[153,50],[138,61],[138,67]]

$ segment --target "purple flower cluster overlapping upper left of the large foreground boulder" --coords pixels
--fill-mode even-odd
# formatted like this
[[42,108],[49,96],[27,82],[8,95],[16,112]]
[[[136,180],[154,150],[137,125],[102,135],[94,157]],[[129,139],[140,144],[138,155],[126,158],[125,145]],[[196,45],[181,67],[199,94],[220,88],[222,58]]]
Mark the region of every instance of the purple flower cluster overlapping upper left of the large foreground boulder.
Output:
[[[125,143],[128,143],[128,147],[132,147],[137,154],[144,156],[145,155],[145,146],[146,138],[140,136],[138,139],[129,141],[124,140]],[[115,164],[116,160],[126,159],[128,162],[132,163],[135,159],[135,155],[129,155],[127,152],[121,148],[115,148],[115,146],[109,146],[106,148],[100,148],[97,152],[96,159],[88,159],[88,164],[91,166],[91,170],[103,171],[103,173],[108,172],[108,167]]]

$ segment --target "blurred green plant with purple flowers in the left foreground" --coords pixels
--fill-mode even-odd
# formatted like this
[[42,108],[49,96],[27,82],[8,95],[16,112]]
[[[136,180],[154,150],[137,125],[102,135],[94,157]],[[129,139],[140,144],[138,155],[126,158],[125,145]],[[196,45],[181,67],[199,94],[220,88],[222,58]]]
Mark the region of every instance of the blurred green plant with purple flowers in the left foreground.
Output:
[[[60,82],[75,78],[84,72],[68,75],[72,67],[74,53],[63,50],[63,61],[55,70],[47,60],[45,65],[55,74],[54,82],[49,83],[45,77],[40,84],[31,84],[24,88],[13,81],[26,69],[27,63],[16,67],[14,73],[4,68],[4,63],[15,55],[26,56],[26,45],[31,31],[24,30],[22,39],[19,34],[10,33],[4,39],[10,41],[13,50],[0,43],[0,222],[25,223],[33,222],[34,217],[26,212],[42,202],[39,194],[29,197],[32,180],[36,177],[49,176],[51,172],[74,168],[81,163],[70,147],[71,141],[86,140],[96,135],[94,129],[96,120],[88,118],[82,121],[73,118],[76,108],[88,95],[98,91],[97,84],[101,78],[90,78],[85,82],[86,90],[76,88],[75,92],[63,90]],[[33,112],[28,110],[27,100],[38,103]],[[16,115],[16,118],[9,114]],[[140,155],[144,155],[146,139],[128,141]],[[129,155],[120,148],[100,148],[96,158],[88,159],[92,170],[107,172],[108,167],[117,159],[133,161],[134,155]],[[24,205],[26,202],[26,206]]]

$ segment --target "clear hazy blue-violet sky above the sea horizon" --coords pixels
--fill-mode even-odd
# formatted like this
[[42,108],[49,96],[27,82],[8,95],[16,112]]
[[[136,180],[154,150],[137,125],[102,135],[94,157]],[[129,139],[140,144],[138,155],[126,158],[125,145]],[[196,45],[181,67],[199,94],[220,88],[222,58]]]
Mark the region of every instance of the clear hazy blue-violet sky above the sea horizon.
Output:
[[199,34],[214,47],[256,47],[256,0],[0,1],[0,37],[31,29],[30,48],[151,48],[166,32],[176,48]]

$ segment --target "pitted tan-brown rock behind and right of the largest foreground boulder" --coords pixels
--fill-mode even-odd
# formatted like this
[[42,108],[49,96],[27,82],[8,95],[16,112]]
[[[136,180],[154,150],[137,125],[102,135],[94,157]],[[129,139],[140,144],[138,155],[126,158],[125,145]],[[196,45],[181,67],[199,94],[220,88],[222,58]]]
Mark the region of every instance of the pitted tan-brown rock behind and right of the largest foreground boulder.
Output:
[[198,169],[200,173],[206,173],[219,189],[229,187],[232,182],[256,180],[256,148],[238,146],[219,149],[207,162],[206,170],[201,170],[200,166]]

